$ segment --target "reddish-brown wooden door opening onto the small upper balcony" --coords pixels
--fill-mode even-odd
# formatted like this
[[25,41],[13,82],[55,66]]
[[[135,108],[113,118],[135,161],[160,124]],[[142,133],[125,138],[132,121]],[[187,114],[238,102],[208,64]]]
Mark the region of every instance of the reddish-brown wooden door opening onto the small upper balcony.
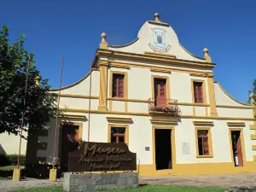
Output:
[[156,106],[166,107],[166,80],[156,79],[154,82]]

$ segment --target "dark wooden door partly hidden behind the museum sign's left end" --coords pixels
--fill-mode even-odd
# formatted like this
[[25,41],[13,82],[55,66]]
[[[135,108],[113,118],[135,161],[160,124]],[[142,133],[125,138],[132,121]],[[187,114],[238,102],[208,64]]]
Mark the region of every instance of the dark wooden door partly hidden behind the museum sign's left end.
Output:
[[68,171],[68,153],[79,148],[79,126],[63,125],[61,137],[61,172]]

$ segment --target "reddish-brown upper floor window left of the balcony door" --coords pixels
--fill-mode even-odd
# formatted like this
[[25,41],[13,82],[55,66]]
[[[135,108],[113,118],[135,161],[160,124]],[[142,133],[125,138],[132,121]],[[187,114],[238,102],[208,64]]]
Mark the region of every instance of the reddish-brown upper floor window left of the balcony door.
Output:
[[124,97],[124,74],[113,74],[112,97]]

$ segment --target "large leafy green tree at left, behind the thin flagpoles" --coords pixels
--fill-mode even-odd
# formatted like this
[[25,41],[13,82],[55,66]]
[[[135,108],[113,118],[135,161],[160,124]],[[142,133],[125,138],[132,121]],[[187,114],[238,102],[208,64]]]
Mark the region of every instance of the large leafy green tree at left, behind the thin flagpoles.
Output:
[[9,42],[9,28],[0,30],[0,133],[19,134],[21,116],[29,132],[47,129],[49,119],[55,118],[56,94],[49,91],[48,79],[36,85],[39,71],[31,54],[26,105],[23,104],[26,82],[26,66],[29,54],[24,48],[25,35],[14,44]]

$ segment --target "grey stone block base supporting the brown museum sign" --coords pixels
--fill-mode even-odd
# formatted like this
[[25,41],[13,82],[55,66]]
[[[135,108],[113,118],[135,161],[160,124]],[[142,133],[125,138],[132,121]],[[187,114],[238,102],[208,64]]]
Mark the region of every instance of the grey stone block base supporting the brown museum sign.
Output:
[[64,173],[63,189],[66,191],[94,191],[138,187],[137,172],[120,173]]

